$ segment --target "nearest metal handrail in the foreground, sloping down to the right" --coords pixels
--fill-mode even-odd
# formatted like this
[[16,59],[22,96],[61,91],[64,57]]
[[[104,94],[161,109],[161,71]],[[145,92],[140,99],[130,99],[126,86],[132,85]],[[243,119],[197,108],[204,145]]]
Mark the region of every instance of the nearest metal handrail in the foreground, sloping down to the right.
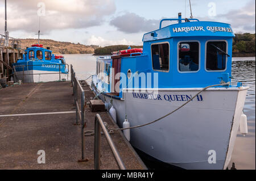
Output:
[[122,158],[120,157],[117,149],[115,148],[114,142],[112,138],[110,137],[108,130],[106,129],[101,116],[97,113],[95,116],[94,121],[94,169],[100,170],[101,165],[101,131],[100,127],[102,128],[102,131],[105,134],[106,140],[108,141],[108,144],[112,150],[112,153],[114,154],[115,161],[117,162],[117,165],[119,169],[126,170],[125,165],[123,165]]

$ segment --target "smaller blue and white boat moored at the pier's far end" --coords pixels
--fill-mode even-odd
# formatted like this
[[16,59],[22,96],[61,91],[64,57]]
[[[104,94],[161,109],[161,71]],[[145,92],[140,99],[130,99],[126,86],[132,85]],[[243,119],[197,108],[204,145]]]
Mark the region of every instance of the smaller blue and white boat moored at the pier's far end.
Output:
[[13,64],[14,76],[23,82],[50,82],[68,78],[68,66],[63,56],[53,54],[34,44],[25,50],[23,58]]

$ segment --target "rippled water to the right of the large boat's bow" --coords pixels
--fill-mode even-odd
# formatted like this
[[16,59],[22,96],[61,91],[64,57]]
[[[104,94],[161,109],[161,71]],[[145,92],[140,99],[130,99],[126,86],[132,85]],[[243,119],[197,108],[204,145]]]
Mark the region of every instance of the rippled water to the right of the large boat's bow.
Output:
[[232,59],[233,81],[249,86],[243,112],[247,116],[248,134],[243,137],[238,131],[231,162],[237,169],[255,169],[255,57]]

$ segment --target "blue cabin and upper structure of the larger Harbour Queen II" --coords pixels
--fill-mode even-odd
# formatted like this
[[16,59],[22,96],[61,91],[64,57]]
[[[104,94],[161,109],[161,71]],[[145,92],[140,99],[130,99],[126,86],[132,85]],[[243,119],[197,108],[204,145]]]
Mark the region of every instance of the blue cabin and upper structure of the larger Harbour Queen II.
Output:
[[[162,27],[164,21],[176,24]],[[143,50],[97,58],[98,90],[122,97],[125,88],[191,88],[231,81],[230,24],[198,19],[162,19],[143,35]]]

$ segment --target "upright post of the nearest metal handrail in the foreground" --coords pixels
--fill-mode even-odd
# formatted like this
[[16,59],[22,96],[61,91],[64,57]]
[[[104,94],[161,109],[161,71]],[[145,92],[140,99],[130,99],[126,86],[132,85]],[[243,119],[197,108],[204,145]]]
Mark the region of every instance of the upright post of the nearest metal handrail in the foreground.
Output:
[[95,117],[94,123],[94,169],[100,170],[101,165],[101,132],[100,123],[98,123],[97,117]]

